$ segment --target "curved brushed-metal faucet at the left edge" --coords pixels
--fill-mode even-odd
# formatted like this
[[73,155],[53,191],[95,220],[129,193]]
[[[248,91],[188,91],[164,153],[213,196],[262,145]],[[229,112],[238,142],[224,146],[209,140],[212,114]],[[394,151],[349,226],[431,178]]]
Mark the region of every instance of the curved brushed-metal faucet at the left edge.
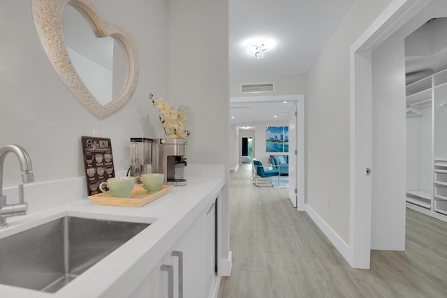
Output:
[[31,158],[25,149],[15,144],[8,144],[0,147],[0,228],[5,228],[6,218],[11,216],[20,216],[27,214],[28,203],[24,202],[23,184],[19,185],[19,199],[17,204],[6,204],[6,195],[3,195],[3,163],[9,152],[13,152],[20,163],[20,170],[22,170],[23,183],[34,181],[34,175],[30,172],[33,167],[31,165]]

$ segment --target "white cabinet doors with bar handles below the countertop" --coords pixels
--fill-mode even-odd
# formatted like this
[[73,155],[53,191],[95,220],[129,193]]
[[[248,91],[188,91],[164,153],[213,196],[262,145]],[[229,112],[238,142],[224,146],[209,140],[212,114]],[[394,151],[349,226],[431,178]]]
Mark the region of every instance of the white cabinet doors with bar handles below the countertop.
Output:
[[[209,274],[207,242],[210,237],[208,210],[210,210],[210,205],[191,225],[186,227],[184,234],[133,291],[132,298],[208,297],[209,290],[213,286],[210,283],[214,282],[207,276]],[[215,221],[212,221],[213,231],[215,230],[214,223]],[[211,237],[214,242],[215,234],[212,233]]]

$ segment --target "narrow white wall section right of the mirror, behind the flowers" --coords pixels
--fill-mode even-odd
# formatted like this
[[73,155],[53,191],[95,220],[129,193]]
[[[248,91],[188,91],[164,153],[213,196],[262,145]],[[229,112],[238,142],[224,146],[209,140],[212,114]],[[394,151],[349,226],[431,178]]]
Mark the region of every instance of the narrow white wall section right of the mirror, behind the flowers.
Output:
[[187,106],[188,160],[228,167],[228,1],[168,3],[170,89],[166,97]]

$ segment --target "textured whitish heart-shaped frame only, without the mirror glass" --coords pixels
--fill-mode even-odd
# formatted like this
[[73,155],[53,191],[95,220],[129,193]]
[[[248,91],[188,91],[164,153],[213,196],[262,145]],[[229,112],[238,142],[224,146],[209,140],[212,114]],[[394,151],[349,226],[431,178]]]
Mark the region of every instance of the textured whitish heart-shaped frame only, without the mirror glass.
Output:
[[[88,22],[91,22],[96,36],[111,36],[124,46],[124,52],[127,54],[124,83],[119,94],[107,105],[101,105],[91,95],[68,56],[62,33],[62,17],[64,7],[68,3],[79,10]],[[31,0],[31,8],[36,31],[48,59],[80,103],[98,119],[108,117],[121,109],[131,99],[138,82],[138,54],[131,36],[123,29],[103,22],[89,0]]]

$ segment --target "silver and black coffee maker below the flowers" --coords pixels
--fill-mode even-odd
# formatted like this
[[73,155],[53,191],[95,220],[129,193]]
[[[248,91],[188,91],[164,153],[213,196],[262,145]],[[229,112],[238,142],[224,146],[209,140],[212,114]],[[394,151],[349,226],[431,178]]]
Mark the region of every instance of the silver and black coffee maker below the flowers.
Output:
[[184,167],[186,166],[186,140],[152,140],[152,172],[165,174],[164,184],[186,185]]

